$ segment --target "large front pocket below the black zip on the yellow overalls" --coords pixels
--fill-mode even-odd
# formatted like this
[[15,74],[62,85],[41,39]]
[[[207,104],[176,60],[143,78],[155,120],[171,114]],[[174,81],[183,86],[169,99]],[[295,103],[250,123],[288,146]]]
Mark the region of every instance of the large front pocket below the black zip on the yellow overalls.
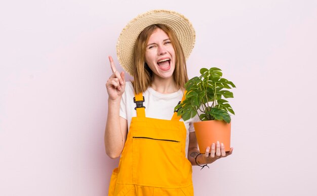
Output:
[[143,186],[179,187],[181,142],[168,138],[133,137],[133,182]]

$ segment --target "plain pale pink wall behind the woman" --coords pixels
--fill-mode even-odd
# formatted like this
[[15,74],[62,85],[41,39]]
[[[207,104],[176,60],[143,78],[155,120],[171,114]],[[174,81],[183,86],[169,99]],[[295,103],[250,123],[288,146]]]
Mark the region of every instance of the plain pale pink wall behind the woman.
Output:
[[[195,195],[316,195],[317,1],[6,1],[0,3],[0,195],[106,195],[108,55],[150,9],[196,29],[189,76],[219,67],[233,155],[200,171]],[[130,77],[131,78],[131,77]]]

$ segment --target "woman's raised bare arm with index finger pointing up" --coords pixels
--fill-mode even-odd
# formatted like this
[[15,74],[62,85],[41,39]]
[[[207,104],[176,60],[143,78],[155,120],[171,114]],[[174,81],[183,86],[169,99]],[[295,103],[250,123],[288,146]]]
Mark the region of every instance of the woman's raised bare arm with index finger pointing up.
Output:
[[120,102],[125,91],[125,74],[116,71],[113,59],[109,57],[112,75],[106,83],[108,92],[108,117],[104,134],[106,154],[114,159],[121,155],[127,138],[127,120],[119,116]]

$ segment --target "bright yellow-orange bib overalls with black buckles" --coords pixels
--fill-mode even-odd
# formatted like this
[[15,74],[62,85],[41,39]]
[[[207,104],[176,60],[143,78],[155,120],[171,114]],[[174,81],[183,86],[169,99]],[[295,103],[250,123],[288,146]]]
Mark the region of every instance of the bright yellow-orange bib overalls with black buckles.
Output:
[[132,118],[108,195],[193,195],[184,122],[177,112],[171,120],[146,118],[143,99],[142,92],[135,94],[137,117]]

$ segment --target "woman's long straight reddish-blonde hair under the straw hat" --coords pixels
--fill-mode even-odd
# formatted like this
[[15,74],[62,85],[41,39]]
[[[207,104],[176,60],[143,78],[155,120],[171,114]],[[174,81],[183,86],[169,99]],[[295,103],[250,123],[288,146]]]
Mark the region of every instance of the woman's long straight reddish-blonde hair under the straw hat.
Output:
[[139,34],[134,45],[134,81],[132,81],[132,84],[134,87],[134,91],[136,93],[144,92],[153,81],[152,70],[145,63],[145,51],[149,37],[157,28],[162,29],[169,36],[171,43],[173,45],[176,57],[173,78],[176,82],[177,87],[184,88],[185,83],[188,81],[186,59],[184,56],[182,46],[174,31],[164,24],[153,24],[143,29],[143,31]]

